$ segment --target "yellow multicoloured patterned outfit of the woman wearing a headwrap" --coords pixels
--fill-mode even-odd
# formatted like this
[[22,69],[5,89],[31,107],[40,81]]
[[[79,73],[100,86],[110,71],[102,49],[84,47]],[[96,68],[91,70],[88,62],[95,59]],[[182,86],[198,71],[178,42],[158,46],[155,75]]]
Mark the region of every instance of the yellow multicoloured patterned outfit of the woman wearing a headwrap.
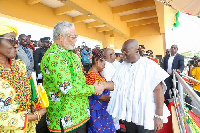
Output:
[[10,69],[0,64],[0,133],[35,133],[35,123],[27,116],[31,89],[25,64],[21,60],[10,64]]

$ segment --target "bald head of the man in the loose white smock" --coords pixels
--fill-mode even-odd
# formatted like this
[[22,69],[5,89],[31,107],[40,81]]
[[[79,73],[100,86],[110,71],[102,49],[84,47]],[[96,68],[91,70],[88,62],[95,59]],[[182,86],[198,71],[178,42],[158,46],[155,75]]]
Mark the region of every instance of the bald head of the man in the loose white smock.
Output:
[[122,52],[125,62],[135,63],[140,58],[138,41],[135,39],[125,41],[122,46]]

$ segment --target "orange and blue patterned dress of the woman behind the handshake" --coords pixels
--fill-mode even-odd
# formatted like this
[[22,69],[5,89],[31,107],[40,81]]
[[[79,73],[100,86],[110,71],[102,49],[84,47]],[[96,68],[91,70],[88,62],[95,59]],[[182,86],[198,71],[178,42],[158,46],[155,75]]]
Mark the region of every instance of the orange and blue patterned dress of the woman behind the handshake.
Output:
[[[106,82],[101,74],[97,74],[93,71],[88,72],[86,83],[92,85],[96,81]],[[108,101],[99,100],[102,95],[110,96],[110,91],[104,90],[101,95],[89,96],[90,120],[88,133],[116,133],[112,116],[106,111]]]

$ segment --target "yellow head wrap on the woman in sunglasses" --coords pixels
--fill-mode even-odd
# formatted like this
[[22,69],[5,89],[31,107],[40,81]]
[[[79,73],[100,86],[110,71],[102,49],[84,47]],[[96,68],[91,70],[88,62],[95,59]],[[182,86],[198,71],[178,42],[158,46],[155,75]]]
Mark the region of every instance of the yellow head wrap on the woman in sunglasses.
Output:
[[0,35],[5,35],[11,32],[14,32],[17,36],[18,34],[17,26],[11,21],[0,20]]

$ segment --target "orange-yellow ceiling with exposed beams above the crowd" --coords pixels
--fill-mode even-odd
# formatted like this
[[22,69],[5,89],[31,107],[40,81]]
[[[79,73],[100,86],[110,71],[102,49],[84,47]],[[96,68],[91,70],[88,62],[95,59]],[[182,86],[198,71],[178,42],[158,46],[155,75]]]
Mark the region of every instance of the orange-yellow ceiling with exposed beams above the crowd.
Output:
[[67,15],[73,23],[85,23],[87,28],[130,36],[132,27],[159,25],[154,0],[27,0],[54,9],[56,15]]

